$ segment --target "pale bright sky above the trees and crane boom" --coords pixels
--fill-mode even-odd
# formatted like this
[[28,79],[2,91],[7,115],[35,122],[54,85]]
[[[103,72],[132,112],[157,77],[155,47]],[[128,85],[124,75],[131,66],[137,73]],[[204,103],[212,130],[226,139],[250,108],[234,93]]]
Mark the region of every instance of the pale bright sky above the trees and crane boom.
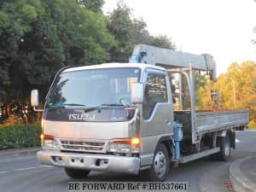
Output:
[[[253,0],[123,0],[152,35],[166,35],[177,50],[213,55],[217,74],[232,62],[256,61],[256,2]],[[105,0],[105,13],[117,0]]]

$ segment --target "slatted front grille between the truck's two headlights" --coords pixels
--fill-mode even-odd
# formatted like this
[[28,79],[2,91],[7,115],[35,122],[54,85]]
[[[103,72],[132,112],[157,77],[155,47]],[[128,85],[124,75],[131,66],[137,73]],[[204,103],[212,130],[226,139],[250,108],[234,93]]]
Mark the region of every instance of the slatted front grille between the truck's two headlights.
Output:
[[102,152],[104,145],[105,143],[103,142],[61,141],[61,146],[63,149],[83,152]]

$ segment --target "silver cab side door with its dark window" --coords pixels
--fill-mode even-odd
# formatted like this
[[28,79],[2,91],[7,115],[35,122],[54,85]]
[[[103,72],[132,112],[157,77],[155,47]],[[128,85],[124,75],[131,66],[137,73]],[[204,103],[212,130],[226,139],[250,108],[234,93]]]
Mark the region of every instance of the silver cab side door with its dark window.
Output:
[[154,149],[160,139],[171,137],[173,122],[172,91],[167,73],[147,69],[144,84],[141,115],[142,166],[152,163]]

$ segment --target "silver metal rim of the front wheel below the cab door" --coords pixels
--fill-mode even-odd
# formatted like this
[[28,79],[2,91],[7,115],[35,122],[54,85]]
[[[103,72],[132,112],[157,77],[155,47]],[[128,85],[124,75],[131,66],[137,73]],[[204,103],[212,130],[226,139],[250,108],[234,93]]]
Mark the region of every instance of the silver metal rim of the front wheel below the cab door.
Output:
[[163,177],[166,173],[166,156],[159,151],[154,157],[154,172],[158,177]]

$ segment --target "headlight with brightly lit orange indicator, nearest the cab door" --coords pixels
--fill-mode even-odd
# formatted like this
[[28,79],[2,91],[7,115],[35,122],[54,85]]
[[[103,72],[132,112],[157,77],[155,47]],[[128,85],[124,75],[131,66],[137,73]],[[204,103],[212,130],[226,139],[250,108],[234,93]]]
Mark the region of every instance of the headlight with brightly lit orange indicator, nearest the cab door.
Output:
[[139,153],[140,139],[138,137],[112,139],[108,143],[108,152],[121,154]]

